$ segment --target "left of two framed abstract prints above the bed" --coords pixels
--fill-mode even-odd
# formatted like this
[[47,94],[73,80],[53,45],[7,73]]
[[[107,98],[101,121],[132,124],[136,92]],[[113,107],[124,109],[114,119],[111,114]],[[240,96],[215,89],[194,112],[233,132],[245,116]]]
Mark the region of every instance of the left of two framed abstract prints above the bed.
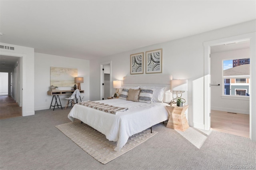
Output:
[[144,73],[144,52],[130,55],[130,73],[143,74]]

